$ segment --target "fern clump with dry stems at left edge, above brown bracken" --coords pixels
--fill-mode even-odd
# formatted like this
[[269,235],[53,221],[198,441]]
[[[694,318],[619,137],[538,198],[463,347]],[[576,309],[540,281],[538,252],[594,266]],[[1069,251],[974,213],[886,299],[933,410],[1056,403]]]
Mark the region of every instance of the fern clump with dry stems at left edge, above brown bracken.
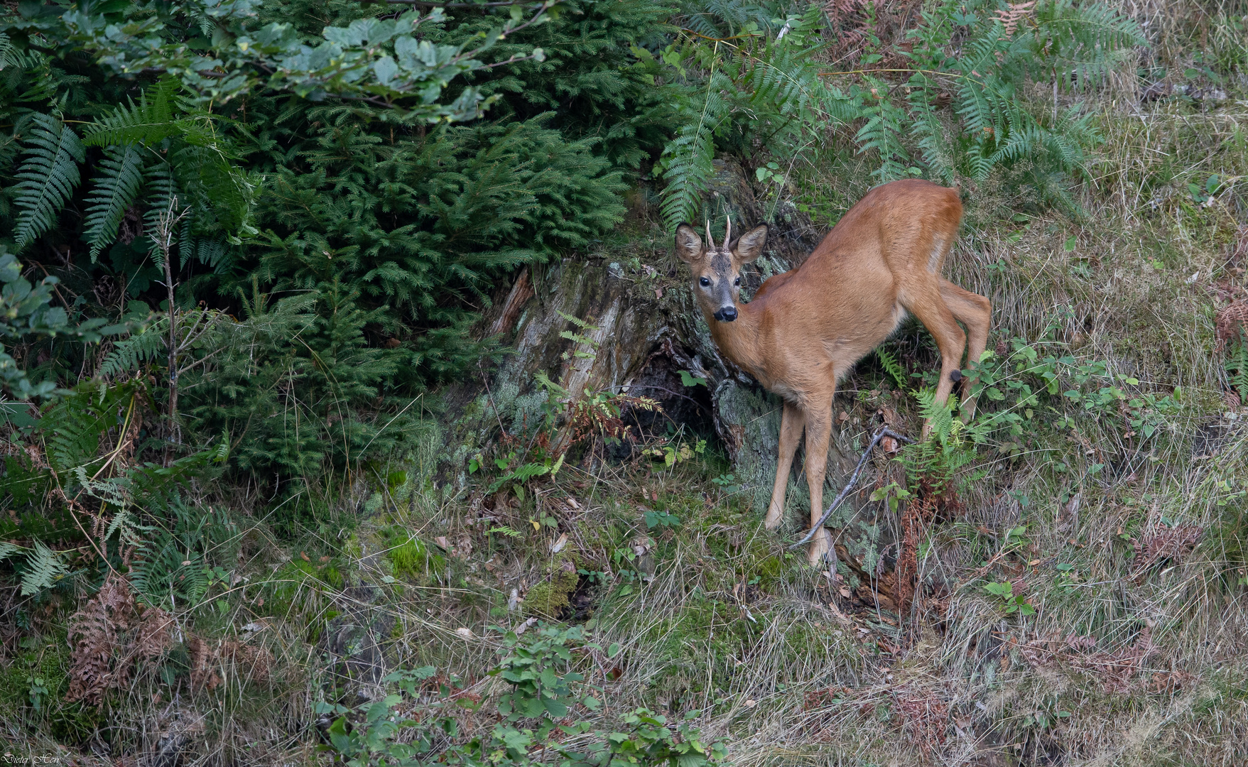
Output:
[[[137,550],[139,559],[149,561],[154,546],[157,554],[168,549],[161,535],[166,520],[190,519],[180,501],[181,486],[222,463],[228,444],[221,440],[160,464],[141,460],[144,449],[136,443],[150,405],[144,377],[119,384],[90,380],[45,404],[37,420],[11,429],[11,438],[24,441],[29,454],[11,456],[0,471],[0,499],[12,509],[0,520],[0,566],[14,569],[24,596],[67,582],[72,572],[66,549],[92,552],[95,569],[121,567],[126,550]],[[195,518],[201,529],[203,514]],[[183,536],[165,559],[175,549],[191,554],[195,546],[188,540]],[[201,571],[192,569],[187,577],[193,581]],[[151,590],[160,592],[160,584]],[[193,591],[187,586],[180,594],[186,599]]]

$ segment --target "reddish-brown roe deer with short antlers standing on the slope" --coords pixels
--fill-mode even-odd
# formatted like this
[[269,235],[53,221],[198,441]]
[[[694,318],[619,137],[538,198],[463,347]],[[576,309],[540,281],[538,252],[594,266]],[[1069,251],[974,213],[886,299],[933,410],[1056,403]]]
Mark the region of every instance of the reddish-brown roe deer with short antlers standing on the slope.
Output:
[[[956,190],[919,180],[879,186],[845,213],[800,267],[771,277],[740,306],[741,267],[763,252],[768,227],[731,239],[729,222],[721,246],[711,238],[710,223],[706,244],[688,223],[676,227],[676,254],[693,271],[694,296],[719,350],[784,398],[769,530],[780,525],[804,428],[810,521],[820,519],[836,382],[880,345],[906,312],[926,326],[940,348],[936,402],[943,404],[961,378],[963,349],[968,347],[971,368],[978,363],[992,304],[940,276],[961,219]],[[962,383],[966,419],[975,413],[973,383]],[[927,427],[924,432],[926,437]],[[824,529],[810,543],[810,564],[829,555],[835,560]]]

